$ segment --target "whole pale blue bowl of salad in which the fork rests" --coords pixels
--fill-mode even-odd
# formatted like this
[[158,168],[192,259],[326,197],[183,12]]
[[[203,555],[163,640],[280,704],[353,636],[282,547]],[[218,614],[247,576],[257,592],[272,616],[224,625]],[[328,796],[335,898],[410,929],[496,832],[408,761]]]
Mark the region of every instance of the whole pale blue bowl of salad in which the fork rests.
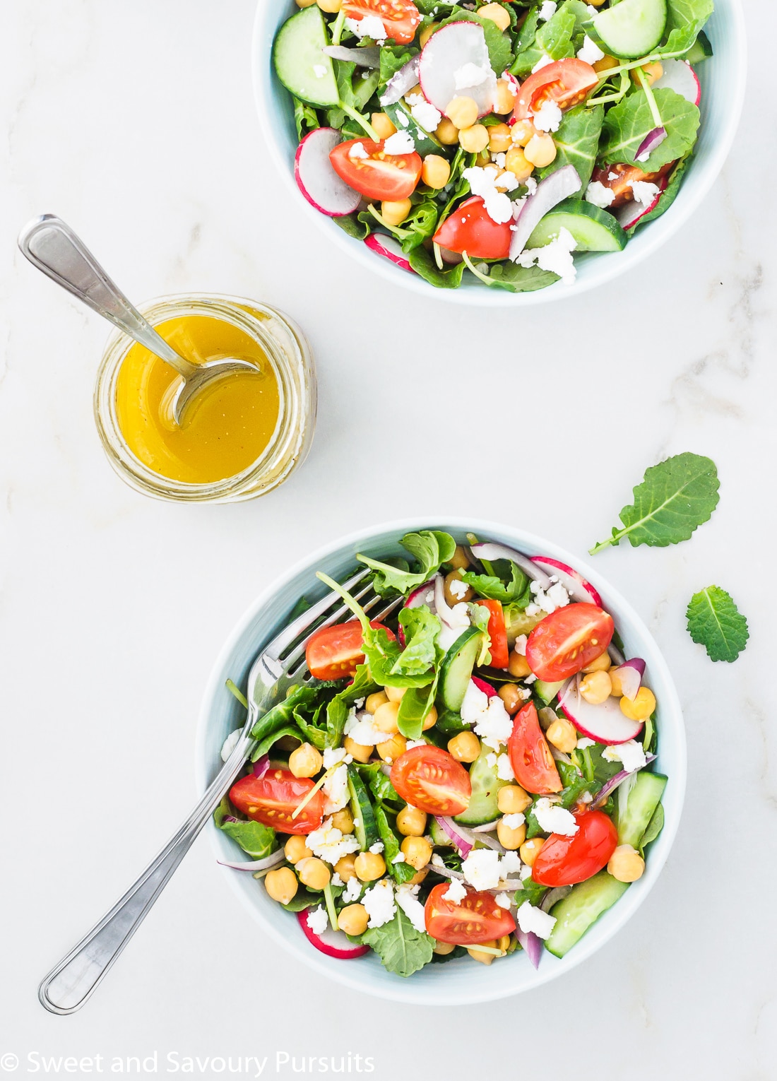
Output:
[[437,1005],[530,990],[603,946],[667,858],[686,771],[667,665],[627,601],[523,530],[364,530],[236,627],[201,711],[201,787],[263,645],[360,569],[398,606],[371,625],[346,591],[353,618],[308,644],[317,681],[257,722],[207,827],[222,873],[266,932],[356,990]]

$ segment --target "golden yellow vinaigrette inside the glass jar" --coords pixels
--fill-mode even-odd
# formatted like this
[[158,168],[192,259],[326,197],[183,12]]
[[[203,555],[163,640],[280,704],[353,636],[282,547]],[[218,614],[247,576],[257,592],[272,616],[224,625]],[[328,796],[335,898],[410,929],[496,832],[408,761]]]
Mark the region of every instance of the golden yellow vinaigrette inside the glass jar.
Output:
[[[258,312],[252,312],[258,315]],[[235,357],[257,374],[236,372],[205,385],[178,427],[168,402],[180,376],[142,345],[126,352],[116,383],[117,421],[130,451],[172,481],[207,484],[247,469],[267,448],[281,408],[278,378],[259,343],[239,326],[202,315],[182,315],[156,330],[187,360]]]

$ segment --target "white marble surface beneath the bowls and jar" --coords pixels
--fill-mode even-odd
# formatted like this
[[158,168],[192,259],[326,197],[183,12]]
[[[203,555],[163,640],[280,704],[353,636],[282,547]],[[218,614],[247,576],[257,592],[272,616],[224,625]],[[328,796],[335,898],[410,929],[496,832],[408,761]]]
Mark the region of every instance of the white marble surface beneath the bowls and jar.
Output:
[[[0,1056],[19,1056],[18,1076],[31,1052],[101,1054],[107,1072],[111,1056],[157,1051],[165,1076],[168,1052],[258,1054],[268,1077],[291,1076],[273,1072],[276,1052],[350,1051],[381,1079],[765,1081],[777,1023],[767,4],[750,4],[734,151],[682,232],[606,291],[479,318],[354,282],[299,224],[255,123],[254,3],[0,4]],[[241,293],[303,323],[320,423],[284,489],[175,507],[112,475],[91,415],[107,328],[15,251],[43,211],[133,297]],[[341,532],[426,510],[520,522],[584,555],[645,466],[685,450],[719,465],[713,520],[676,548],[597,557],[666,650],[689,744],[674,851],[607,948],[531,998],[444,1013],[356,1001],[264,937],[201,838],[93,1002],[43,1012],[40,976],[188,810],[207,670],[277,571]],[[688,597],[712,582],[750,619],[733,666],[684,630]]]

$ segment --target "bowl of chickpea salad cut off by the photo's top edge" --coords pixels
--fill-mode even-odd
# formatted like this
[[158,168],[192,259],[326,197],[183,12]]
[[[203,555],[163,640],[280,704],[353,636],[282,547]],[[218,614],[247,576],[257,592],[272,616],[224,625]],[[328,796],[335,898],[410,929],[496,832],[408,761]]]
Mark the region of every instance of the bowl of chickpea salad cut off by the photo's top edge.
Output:
[[738,0],[273,0],[253,66],[267,144],[335,243],[421,294],[515,305],[680,228],[746,65]]

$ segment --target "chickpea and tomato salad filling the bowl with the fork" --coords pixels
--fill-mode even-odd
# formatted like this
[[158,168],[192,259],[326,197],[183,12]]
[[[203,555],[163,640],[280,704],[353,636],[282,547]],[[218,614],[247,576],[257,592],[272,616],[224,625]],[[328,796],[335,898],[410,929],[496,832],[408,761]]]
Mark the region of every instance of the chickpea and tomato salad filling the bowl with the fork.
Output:
[[401,544],[358,556],[360,600],[319,574],[352,618],[313,630],[313,679],[255,722],[215,815],[243,853],[228,866],[337,959],[536,966],[641,877],[660,832],[645,664],[557,560],[438,530]]

